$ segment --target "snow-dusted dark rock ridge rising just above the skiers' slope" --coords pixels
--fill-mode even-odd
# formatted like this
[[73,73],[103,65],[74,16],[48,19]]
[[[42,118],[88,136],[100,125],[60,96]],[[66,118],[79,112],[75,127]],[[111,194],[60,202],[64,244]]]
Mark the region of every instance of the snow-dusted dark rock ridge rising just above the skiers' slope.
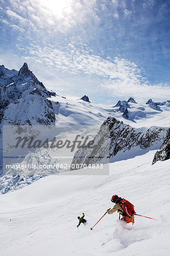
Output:
[[[108,127],[109,135],[107,135]],[[94,164],[104,158],[110,158],[110,161],[117,161],[132,158],[133,156],[145,154],[146,150],[159,148],[163,142],[167,128],[133,128],[122,121],[113,117],[108,117],[101,125],[98,134],[94,137],[94,147],[79,148],[74,155],[72,166],[76,164]],[[109,136],[109,150],[105,143]],[[74,168],[72,168],[74,170]]]

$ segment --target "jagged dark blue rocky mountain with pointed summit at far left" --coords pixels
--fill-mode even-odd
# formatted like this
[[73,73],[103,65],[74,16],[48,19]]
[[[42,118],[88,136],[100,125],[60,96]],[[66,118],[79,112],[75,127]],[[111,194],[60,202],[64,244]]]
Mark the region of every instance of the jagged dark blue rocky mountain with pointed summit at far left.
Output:
[[26,63],[19,72],[0,66],[1,125],[52,125],[51,94]]

